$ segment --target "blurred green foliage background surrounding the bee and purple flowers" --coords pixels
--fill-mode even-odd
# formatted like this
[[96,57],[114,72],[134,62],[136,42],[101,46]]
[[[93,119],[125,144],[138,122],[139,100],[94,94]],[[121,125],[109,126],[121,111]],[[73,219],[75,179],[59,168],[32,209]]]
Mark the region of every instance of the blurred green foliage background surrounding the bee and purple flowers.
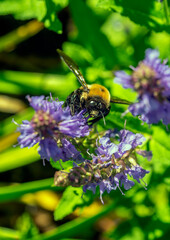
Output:
[[[30,120],[26,95],[65,100],[79,87],[61,63],[63,49],[79,65],[87,83],[100,83],[112,95],[134,101],[136,94],[113,82],[156,48],[170,60],[170,1],[155,0],[0,0],[0,239],[168,239],[170,235],[169,131],[161,123],[142,125],[126,107],[112,106],[98,131],[126,128],[142,133],[150,162],[148,190],[136,184],[125,196],[116,190],[99,195],[81,188],[53,187],[55,169],[43,166],[36,147],[20,149],[12,123]],[[57,167],[59,169],[59,166]]]

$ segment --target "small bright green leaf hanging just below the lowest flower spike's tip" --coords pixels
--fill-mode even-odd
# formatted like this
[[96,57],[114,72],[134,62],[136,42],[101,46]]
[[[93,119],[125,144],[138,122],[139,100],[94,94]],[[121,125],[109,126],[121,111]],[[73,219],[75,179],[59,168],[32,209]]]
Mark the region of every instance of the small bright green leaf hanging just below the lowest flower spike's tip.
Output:
[[90,195],[83,195],[82,188],[68,187],[54,212],[54,219],[61,220],[71,214],[77,207],[86,206],[91,203]]

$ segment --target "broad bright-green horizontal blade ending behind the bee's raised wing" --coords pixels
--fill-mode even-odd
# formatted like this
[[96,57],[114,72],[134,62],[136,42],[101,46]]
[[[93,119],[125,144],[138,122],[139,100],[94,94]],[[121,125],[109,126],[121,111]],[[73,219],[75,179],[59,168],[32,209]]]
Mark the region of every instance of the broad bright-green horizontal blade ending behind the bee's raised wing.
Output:
[[[0,92],[13,94],[49,94],[65,98],[78,86],[72,74],[57,75],[19,71],[0,72]],[[65,87],[67,86],[67,88]],[[64,91],[63,91],[64,89]]]

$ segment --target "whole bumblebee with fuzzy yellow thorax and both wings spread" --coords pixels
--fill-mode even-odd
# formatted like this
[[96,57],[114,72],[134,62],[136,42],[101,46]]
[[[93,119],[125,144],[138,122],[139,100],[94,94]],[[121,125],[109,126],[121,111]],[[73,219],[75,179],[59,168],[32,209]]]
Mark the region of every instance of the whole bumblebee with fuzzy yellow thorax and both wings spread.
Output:
[[70,107],[72,115],[85,109],[92,118],[90,123],[93,124],[109,114],[110,103],[131,104],[124,99],[111,97],[108,89],[100,84],[88,85],[77,64],[60,49],[57,49],[57,52],[81,84],[81,87],[73,91],[64,103],[65,107]]

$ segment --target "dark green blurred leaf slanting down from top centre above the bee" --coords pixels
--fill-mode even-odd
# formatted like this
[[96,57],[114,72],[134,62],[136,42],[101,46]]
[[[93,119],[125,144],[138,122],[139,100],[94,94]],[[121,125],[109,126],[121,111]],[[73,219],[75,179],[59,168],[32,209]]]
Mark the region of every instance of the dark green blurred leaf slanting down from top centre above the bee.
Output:
[[78,28],[79,40],[94,58],[102,56],[105,65],[111,69],[117,61],[117,56],[109,40],[100,31],[99,19],[82,0],[70,0],[69,6]]

